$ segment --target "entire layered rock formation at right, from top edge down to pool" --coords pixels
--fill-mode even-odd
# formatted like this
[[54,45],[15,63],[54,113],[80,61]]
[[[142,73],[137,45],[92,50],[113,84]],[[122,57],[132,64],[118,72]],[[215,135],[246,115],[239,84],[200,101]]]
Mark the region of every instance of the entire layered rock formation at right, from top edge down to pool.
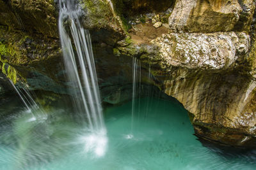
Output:
[[255,147],[254,11],[253,1],[176,1],[169,33],[118,50],[151,63],[157,85],[189,111],[197,136]]

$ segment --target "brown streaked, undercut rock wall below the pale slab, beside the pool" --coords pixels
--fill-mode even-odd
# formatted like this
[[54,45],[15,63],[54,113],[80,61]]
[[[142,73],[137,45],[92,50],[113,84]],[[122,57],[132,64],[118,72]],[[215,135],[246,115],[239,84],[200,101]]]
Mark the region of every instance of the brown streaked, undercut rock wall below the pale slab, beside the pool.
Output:
[[256,81],[250,76],[177,69],[163,82],[164,92],[193,113],[197,136],[221,145],[255,147]]

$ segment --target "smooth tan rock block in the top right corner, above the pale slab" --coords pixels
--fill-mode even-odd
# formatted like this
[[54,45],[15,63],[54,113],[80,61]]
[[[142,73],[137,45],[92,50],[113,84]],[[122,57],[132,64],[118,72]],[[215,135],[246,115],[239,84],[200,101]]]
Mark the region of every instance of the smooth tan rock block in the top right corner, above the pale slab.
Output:
[[173,32],[248,31],[253,0],[177,0],[169,18]]

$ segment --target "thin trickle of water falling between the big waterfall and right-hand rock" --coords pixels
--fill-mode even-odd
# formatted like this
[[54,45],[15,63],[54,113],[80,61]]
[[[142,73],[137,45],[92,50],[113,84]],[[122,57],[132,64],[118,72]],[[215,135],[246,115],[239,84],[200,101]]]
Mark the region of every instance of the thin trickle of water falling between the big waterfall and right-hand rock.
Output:
[[[139,82],[139,85],[138,85]],[[141,82],[141,66],[140,60],[136,57],[132,58],[132,120],[131,120],[131,129],[134,125],[134,113],[136,108],[136,96],[140,95],[140,82]],[[139,91],[139,92],[138,92]],[[140,99],[139,99],[139,111],[140,111]],[[138,117],[140,117],[140,113],[138,112]]]

